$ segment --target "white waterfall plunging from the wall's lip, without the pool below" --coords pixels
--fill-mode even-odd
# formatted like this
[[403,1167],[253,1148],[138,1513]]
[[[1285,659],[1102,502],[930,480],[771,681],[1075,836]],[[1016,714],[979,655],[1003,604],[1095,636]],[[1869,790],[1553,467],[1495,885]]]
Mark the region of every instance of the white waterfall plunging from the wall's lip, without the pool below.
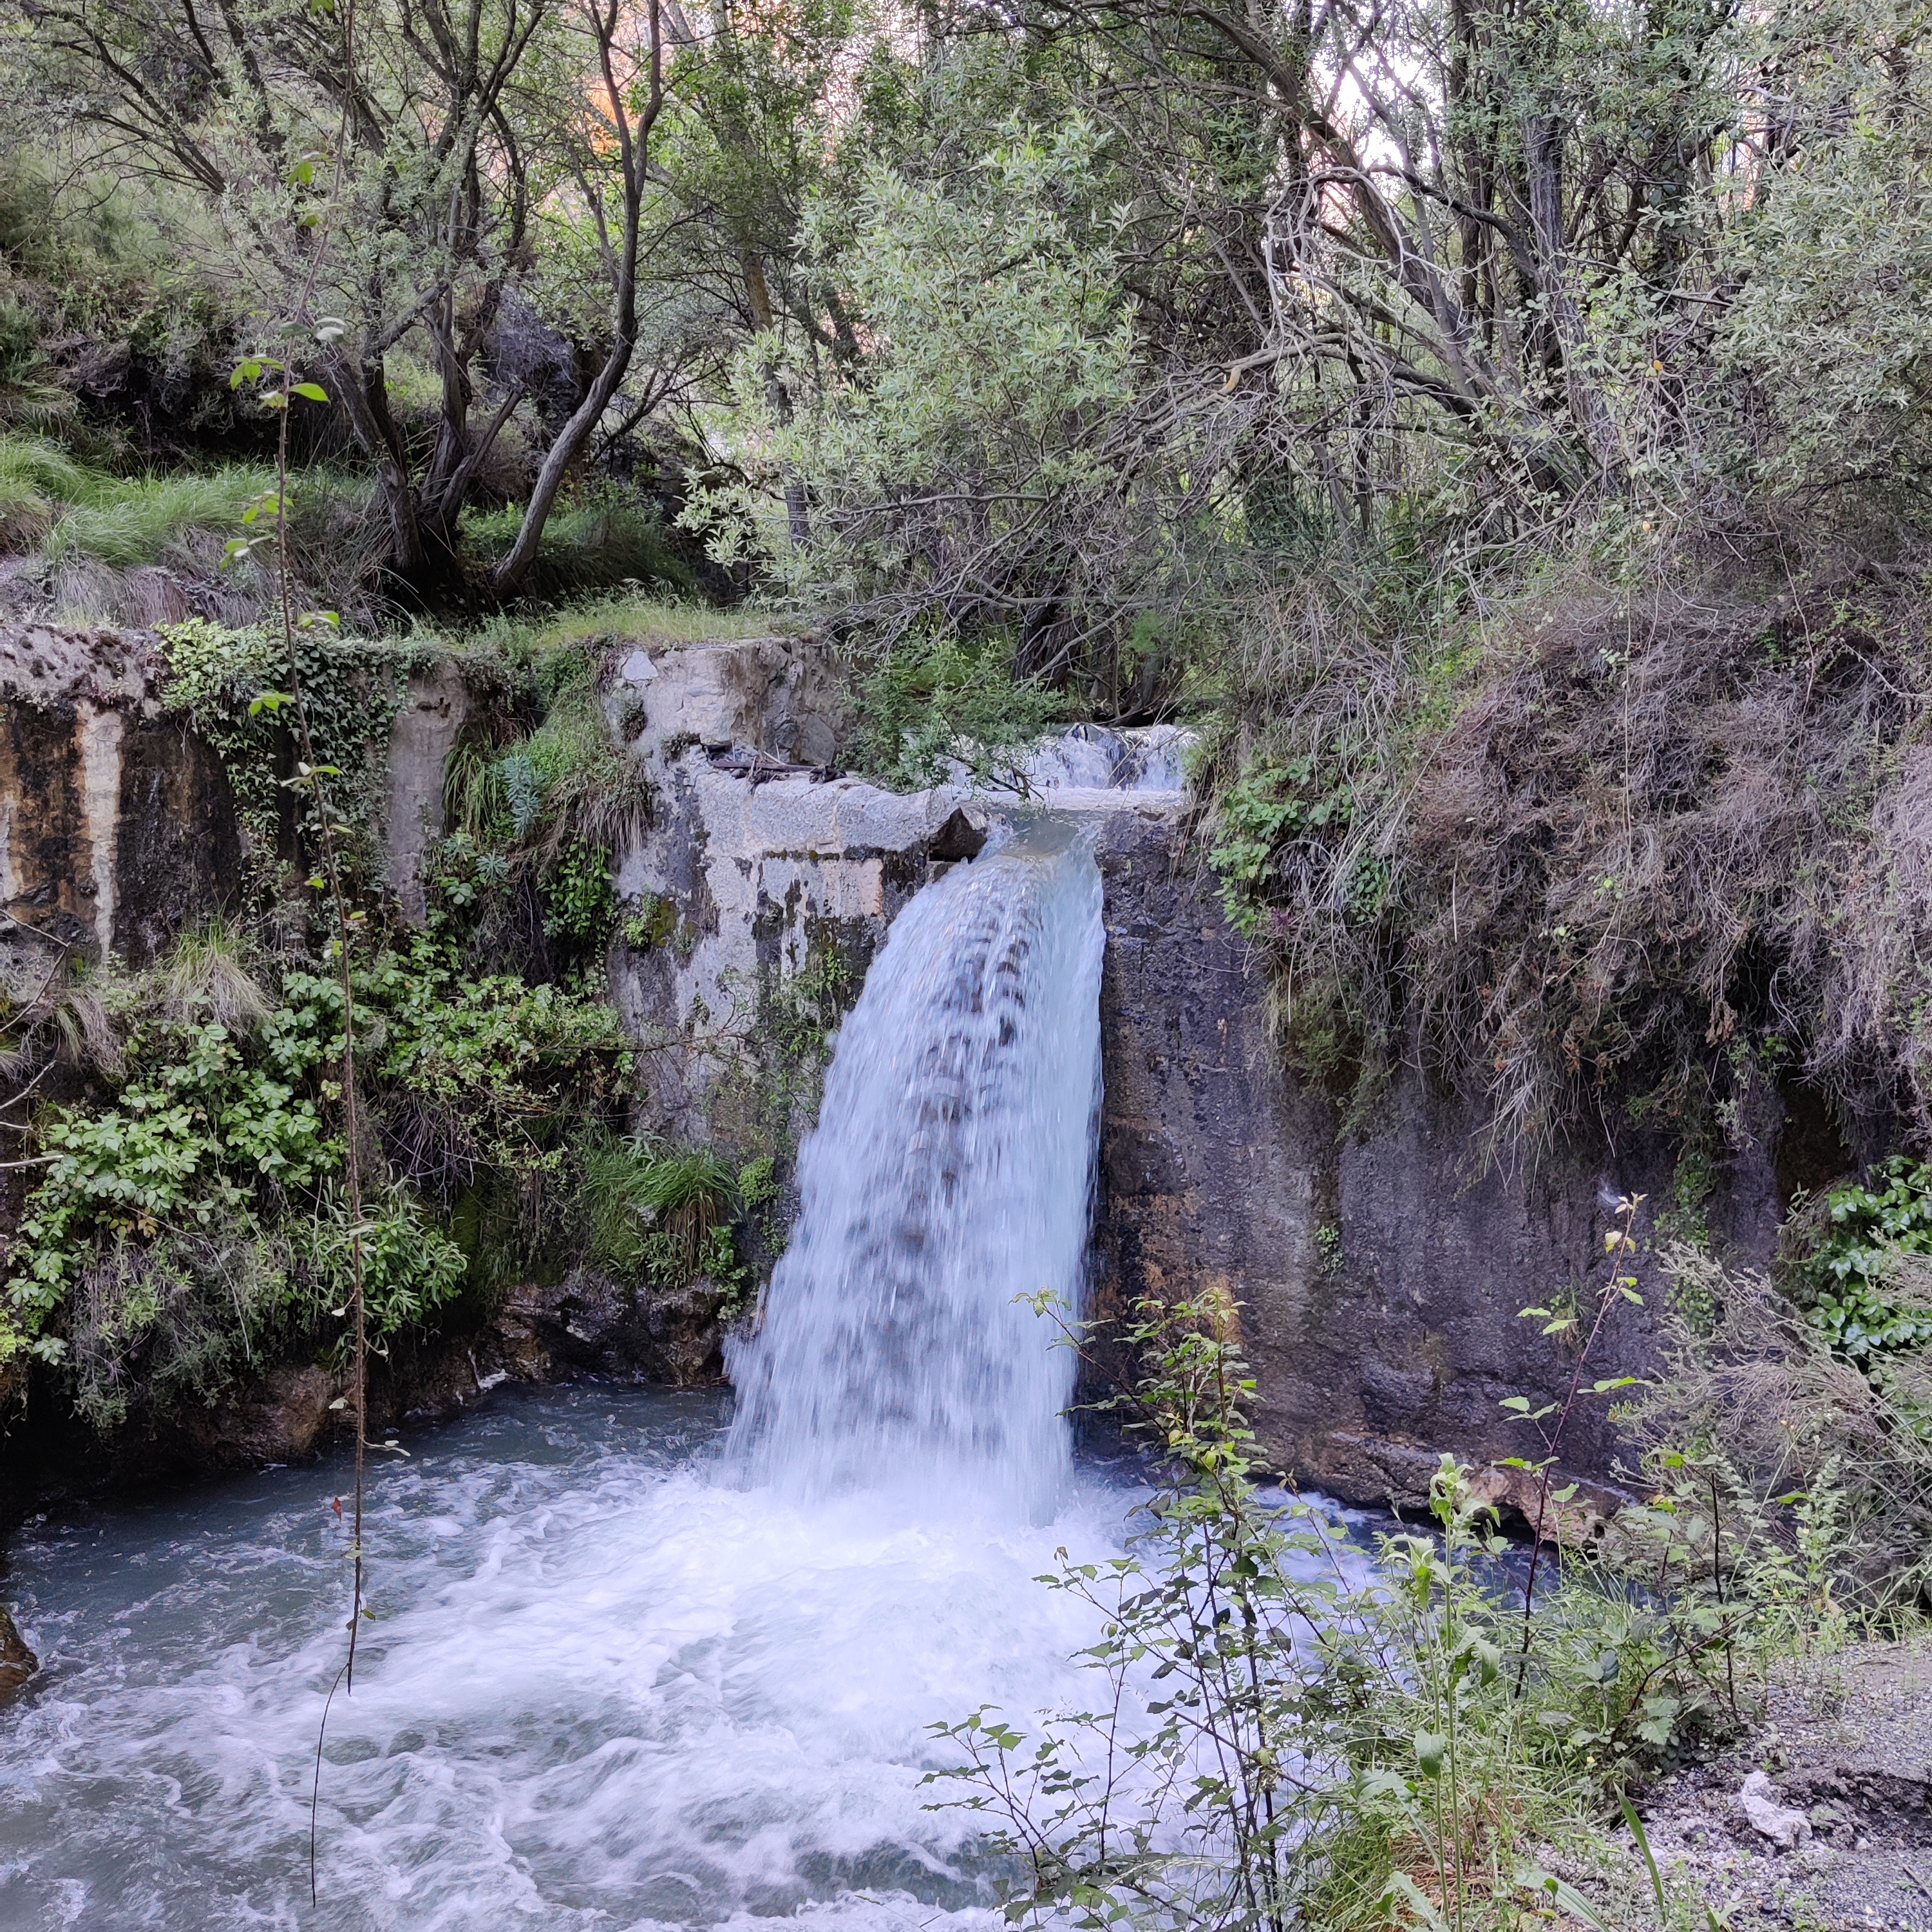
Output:
[[734,1350],[728,1464],[800,1495],[918,1490],[1043,1519],[1099,1119],[1101,883],[1041,821],[925,887],[838,1034],[802,1209]]

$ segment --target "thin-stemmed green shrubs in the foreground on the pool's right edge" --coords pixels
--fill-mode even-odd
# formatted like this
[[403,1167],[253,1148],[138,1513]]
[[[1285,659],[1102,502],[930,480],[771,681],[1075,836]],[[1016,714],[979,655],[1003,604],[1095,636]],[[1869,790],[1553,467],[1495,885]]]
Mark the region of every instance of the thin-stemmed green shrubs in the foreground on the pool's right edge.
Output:
[[1627,1779],[1735,1725],[1770,1631],[1741,1519],[1714,1565],[1698,1484],[1667,1482],[1629,1544],[1567,1544],[1526,1605],[1443,1457],[1432,1520],[1364,1551],[1260,1486],[1233,1327],[1213,1298],[1146,1302],[1124,1335],[1159,1466],[1126,1555],[1045,1578],[1099,1619],[1080,1710],[1034,1735],[993,1710],[935,1727],[962,1762],[933,1777],[1026,1874],[1009,1918],[1602,1924],[1542,1861],[1600,1843]]

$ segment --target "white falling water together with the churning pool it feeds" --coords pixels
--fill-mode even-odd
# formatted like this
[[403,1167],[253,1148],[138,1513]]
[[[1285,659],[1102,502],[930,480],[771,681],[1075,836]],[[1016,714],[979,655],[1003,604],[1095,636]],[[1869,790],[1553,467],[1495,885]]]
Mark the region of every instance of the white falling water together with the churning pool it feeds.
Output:
[[1090,1694],[1068,1658],[1097,1627],[1034,1578],[1117,1551],[1128,1501],[1068,1468],[1070,1358],[1014,1302],[1078,1291],[1097,912],[1045,833],[895,923],[723,1459],[711,1397],[582,1385],[506,1389],[375,1470],[317,1909],[340,1470],[29,1526],[0,1924],[995,1932],[929,1725]]

